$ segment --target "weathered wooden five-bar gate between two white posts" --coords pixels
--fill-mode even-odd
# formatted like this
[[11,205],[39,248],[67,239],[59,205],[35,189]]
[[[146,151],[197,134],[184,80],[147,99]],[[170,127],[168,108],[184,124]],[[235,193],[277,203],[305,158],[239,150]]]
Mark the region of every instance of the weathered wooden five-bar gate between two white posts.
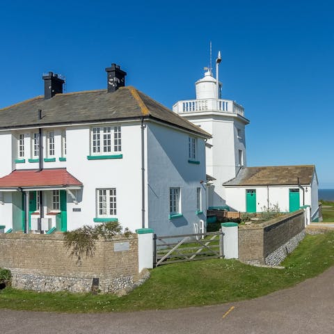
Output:
[[223,232],[153,237],[154,267],[174,262],[223,258]]

